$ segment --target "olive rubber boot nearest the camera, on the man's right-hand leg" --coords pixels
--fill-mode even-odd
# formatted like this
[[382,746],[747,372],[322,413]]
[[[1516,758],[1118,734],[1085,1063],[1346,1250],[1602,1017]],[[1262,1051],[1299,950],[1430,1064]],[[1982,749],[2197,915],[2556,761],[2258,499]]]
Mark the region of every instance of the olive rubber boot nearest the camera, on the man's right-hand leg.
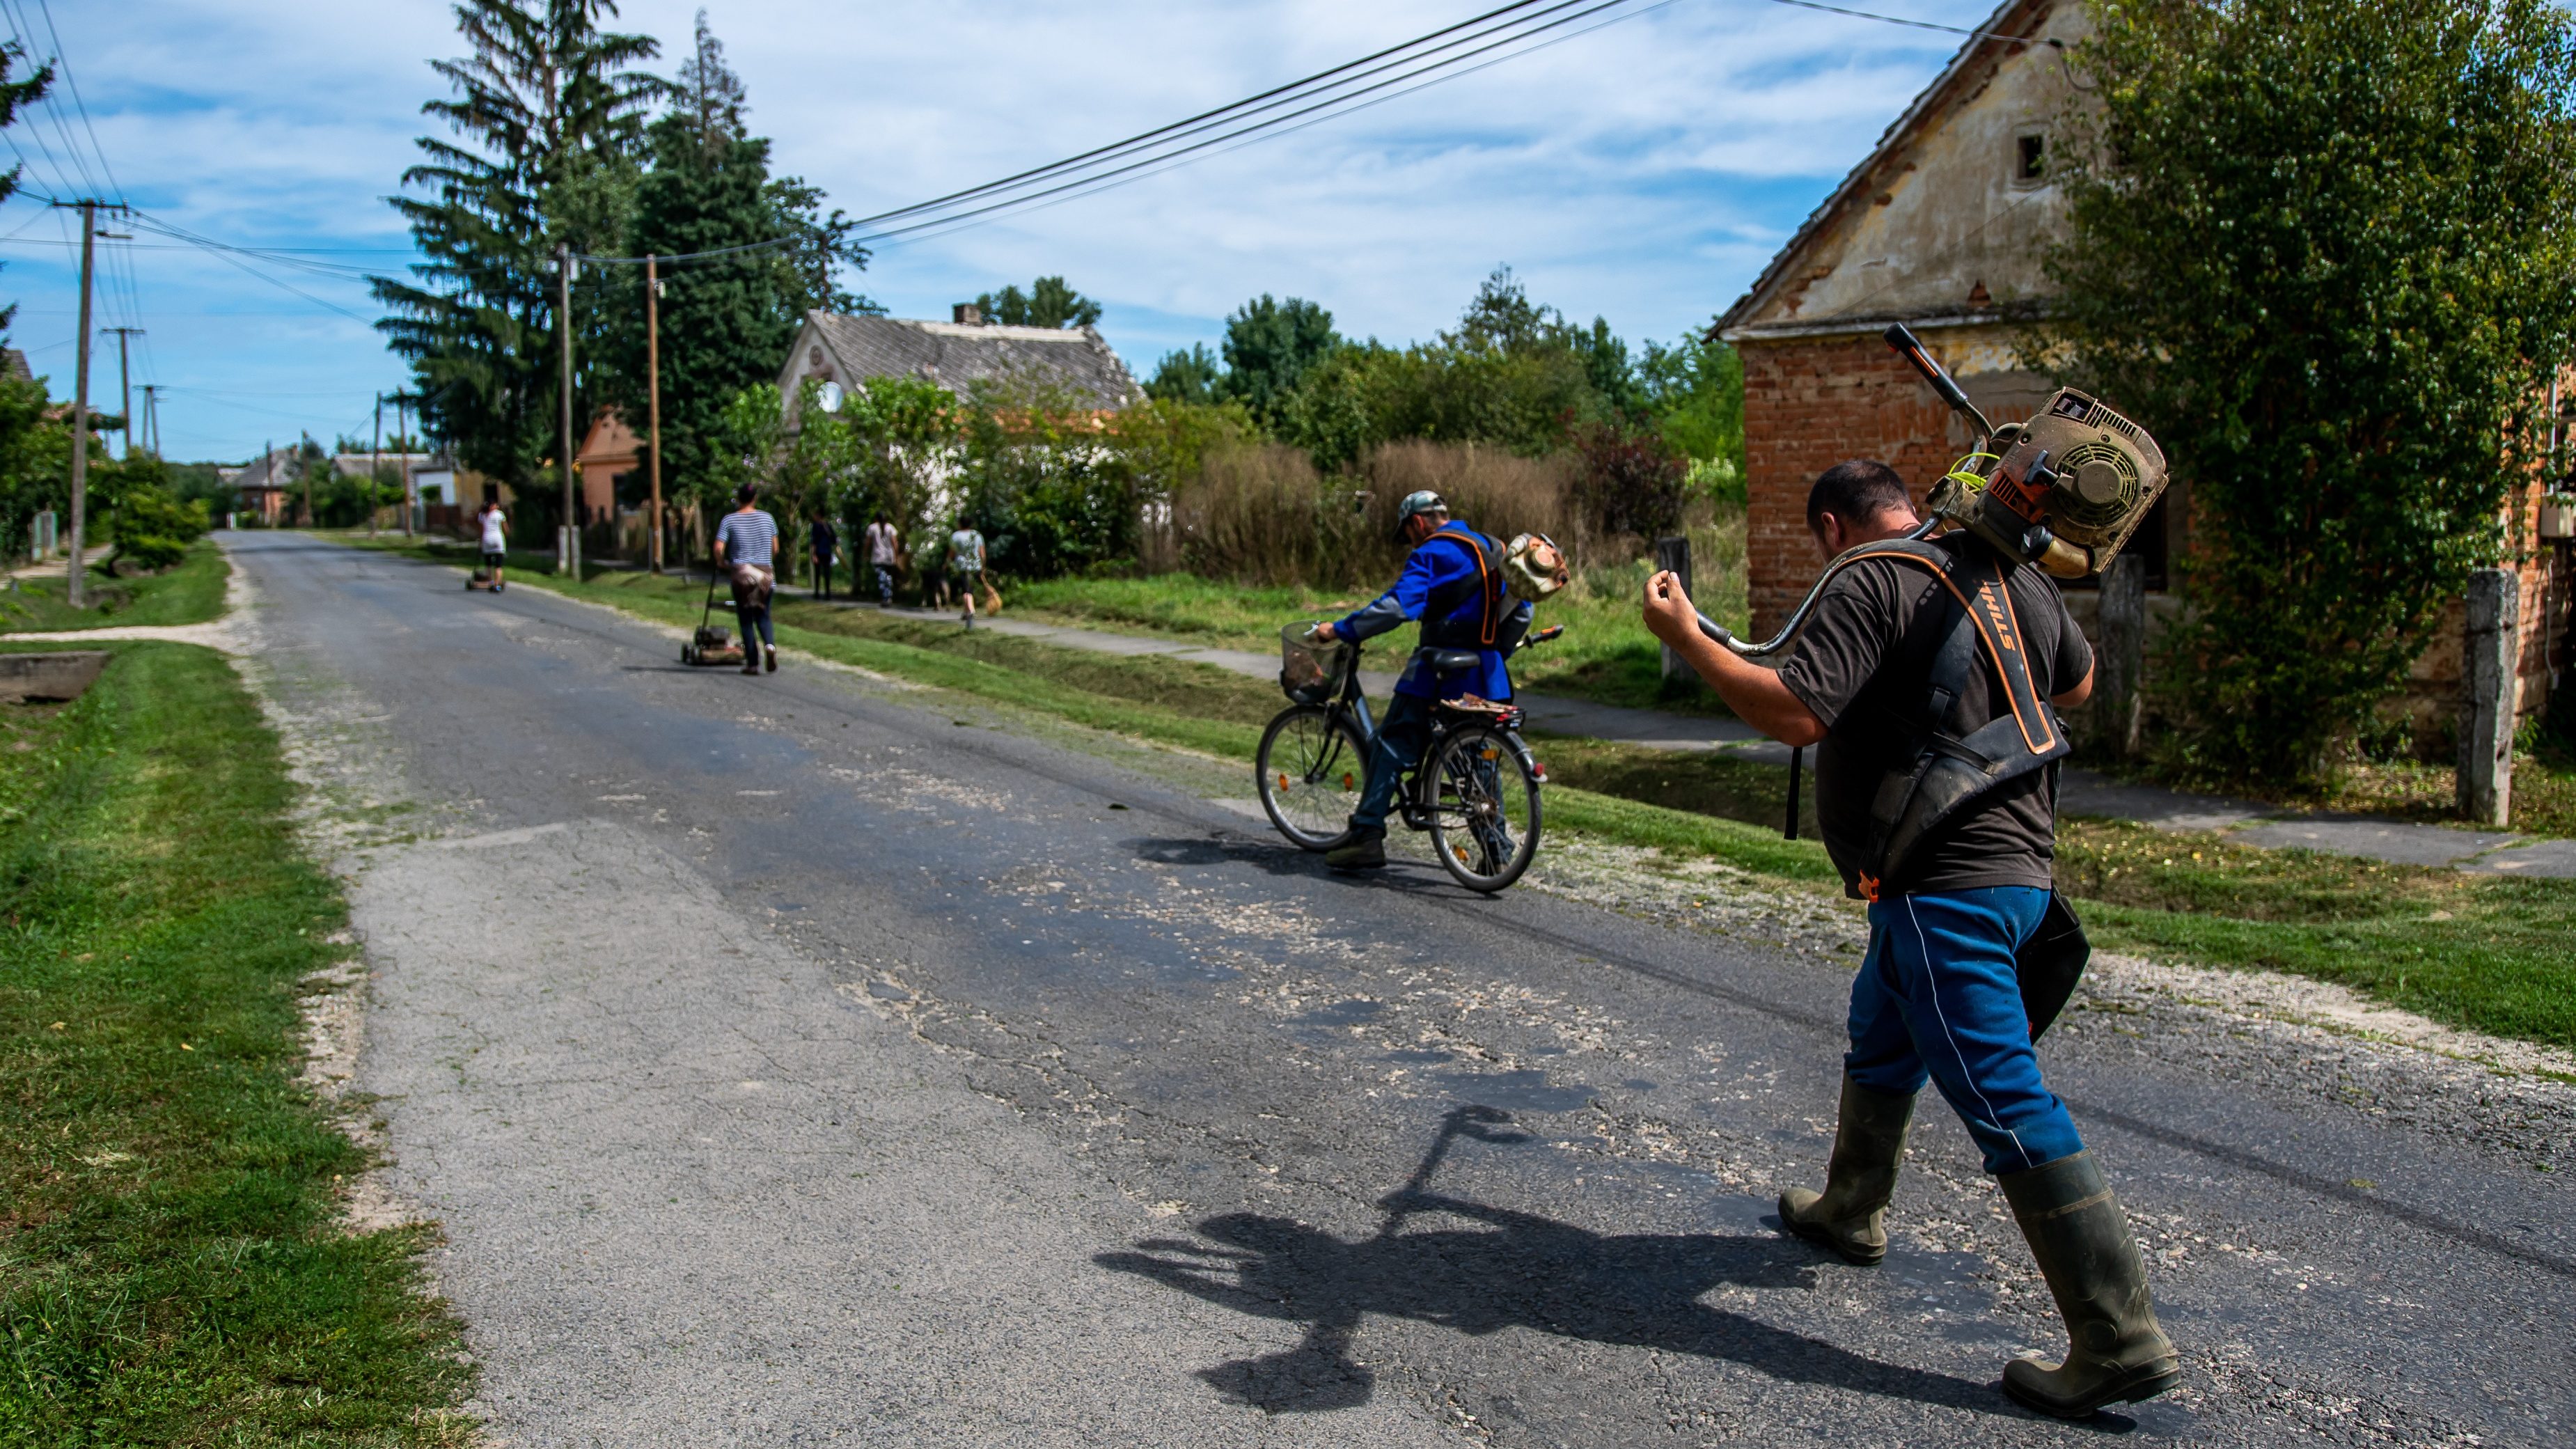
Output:
[[2066,1315],[2066,1361],[2004,1364],[2004,1392],[2058,1418],[2156,1397],[2182,1382],[2174,1341],[2156,1325],[2146,1258],[2092,1152],[1996,1178],[2030,1256]]

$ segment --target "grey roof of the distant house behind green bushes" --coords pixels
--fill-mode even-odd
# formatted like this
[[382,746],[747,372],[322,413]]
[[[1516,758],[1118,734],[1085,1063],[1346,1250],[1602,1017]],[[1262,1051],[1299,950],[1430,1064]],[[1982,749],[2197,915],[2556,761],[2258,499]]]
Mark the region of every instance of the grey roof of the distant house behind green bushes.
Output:
[[958,397],[976,384],[1059,392],[1079,407],[1115,413],[1144,397],[1118,353],[1092,327],[1002,327],[961,302],[951,322],[840,317],[806,312],[778,369],[778,392],[796,420],[806,379],[858,387],[871,376],[917,376]]

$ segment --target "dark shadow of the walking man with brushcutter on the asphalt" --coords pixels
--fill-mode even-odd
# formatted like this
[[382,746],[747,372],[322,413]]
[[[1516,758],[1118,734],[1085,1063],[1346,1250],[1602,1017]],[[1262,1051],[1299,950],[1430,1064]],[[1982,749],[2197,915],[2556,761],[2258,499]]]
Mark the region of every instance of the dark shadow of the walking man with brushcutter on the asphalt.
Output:
[[[1296,1348],[1236,1359],[1198,1377],[1270,1413],[1368,1403],[1376,1377],[1352,1361],[1350,1336],[1370,1312],[1461,1333],[1535,1328],[1592,1343],[1726,1359],[1775,1379],[1832,1385],[1942,1408],[2020,1418],[1999,1392],[1950,1374],[1880,1364],[1821,1338],[1708,1307],[1718,1284],[1808,1287],[1816,1258],[1775,1238],[1605,1235],[1530,1212],[1427,1191],[1458,1137],[1528,1142],[1494,1132],[1489,1106],[1453,1109],[1412,1181],[1388,1194],[1373,1238],[1345,1243],[1285,1217],[1229,1212],[1198,1225],[1208,1243],[1151,1238],[1095,1263],[1141,1274],[1208,1302],[1306,1325]],[[1419,1212],[1489,1227],[1401,1232]]]

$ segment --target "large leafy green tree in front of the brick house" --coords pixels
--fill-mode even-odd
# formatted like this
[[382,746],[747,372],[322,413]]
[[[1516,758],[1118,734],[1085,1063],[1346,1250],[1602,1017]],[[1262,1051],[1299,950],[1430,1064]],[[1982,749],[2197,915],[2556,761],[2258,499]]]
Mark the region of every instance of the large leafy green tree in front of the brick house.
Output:
[[2576,351],[2576,44],[2545,0],[2102,0],[2045,356],[2190,482],[2172,701],[2316,779],[2512,557]]

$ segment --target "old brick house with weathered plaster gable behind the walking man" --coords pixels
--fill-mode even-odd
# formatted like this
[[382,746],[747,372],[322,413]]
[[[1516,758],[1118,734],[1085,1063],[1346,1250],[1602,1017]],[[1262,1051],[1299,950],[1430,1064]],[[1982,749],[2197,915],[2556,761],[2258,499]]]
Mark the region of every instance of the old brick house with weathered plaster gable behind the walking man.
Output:
[[[1880,340],[1906,322],[1994,420],[2027,418],[2053,384],[2017,343],[2045,325],[2040,250],[2063,224],[2048,183],[2050,119],[2071,101],[2066,49],[2092,34],[2084,0],[2004,0],[1950,64],[1816,206],[1754,286],[1718,317],[1744,356],[1744,464],[1754,632],[1770,634],[1819,572],[1806,490],[1826,467],[1870,456],[1917,500],[1971,443],[1929,387]],[[2020,36],[2020,39],[2012,39]],[[2117,405],[2117,400],[2112,400]],[[2166,559],[2187,544],[2190,459],[2130,549],[2146,559],[2148,614],[2169,616]],[[2566,624],[2566,580],[2535,544],[2537,495],[2519,539],[2522,709],[2540,709]],[[2555,570],[2563,572],[2563,570]],[[2092,596],[2069,593],[2092,629]],[[2416,663],[2409,704],[2450,717],[2460,681],[2460,608]]]

